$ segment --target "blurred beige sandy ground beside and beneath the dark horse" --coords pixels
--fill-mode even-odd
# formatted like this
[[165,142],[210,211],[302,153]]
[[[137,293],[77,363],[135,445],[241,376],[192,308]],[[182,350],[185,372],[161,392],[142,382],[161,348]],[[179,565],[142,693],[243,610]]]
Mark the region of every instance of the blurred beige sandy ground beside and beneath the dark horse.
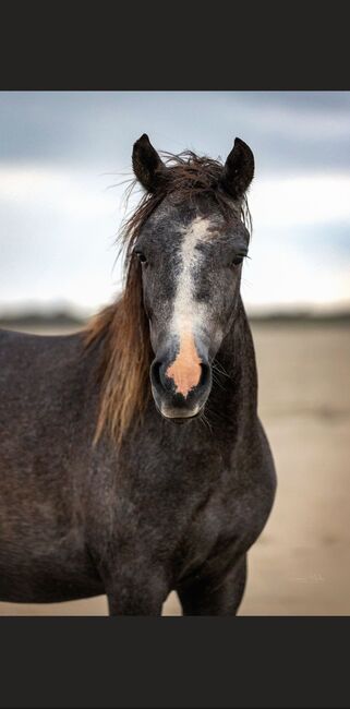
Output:
[[[350,327],[254,325],[260,414],[278,473],[240,615],[350,614]],[[105,597],[0,615],[106,615]],[[165,615],[180,615],[171,593]]]

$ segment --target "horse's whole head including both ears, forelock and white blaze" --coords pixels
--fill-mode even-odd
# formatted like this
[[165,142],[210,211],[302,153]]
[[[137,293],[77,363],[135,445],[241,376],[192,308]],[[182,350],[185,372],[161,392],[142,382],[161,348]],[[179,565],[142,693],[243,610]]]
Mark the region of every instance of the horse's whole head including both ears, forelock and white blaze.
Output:
[[154,208],[133,249],[155,359],[154,400],[167,419],[197,416],[212,388],[212,362],[239,300],[249,231],[242,200],[253,178],[250,147],[237,139],[225,166],[192,156],[167,167],[146,135],[133,149],[134,172]]

